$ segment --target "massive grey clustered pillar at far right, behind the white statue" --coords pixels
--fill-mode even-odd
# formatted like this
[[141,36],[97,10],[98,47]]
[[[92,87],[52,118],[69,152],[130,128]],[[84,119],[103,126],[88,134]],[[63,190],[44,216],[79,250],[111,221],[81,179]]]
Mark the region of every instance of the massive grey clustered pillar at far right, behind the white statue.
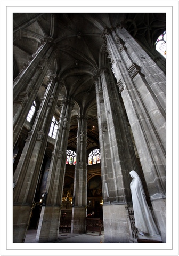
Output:
[[105,39],[165,242],[166,77],[121,24],[106,31]]

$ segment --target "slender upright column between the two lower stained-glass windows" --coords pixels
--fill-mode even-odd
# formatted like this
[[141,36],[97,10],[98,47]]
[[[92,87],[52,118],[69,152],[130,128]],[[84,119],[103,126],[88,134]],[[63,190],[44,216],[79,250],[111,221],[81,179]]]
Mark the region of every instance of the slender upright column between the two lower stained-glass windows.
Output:
[[72,233],[86,232],[86,205],[87,205],[87,163],[86,140],[87,118],[78,116],[77,134],[77,163],[75,166],[74,197],[75,205],[72,207]]

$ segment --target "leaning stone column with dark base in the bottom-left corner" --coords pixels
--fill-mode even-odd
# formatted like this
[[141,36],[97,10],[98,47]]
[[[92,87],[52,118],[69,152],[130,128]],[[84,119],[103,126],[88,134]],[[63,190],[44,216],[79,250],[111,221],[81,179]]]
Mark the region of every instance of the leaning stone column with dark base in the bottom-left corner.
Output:
[[13,190],[13,243],[23,243],[26,236],[31,205],[60,88],[56,79],[48,86],[14,173],[16,186]]

